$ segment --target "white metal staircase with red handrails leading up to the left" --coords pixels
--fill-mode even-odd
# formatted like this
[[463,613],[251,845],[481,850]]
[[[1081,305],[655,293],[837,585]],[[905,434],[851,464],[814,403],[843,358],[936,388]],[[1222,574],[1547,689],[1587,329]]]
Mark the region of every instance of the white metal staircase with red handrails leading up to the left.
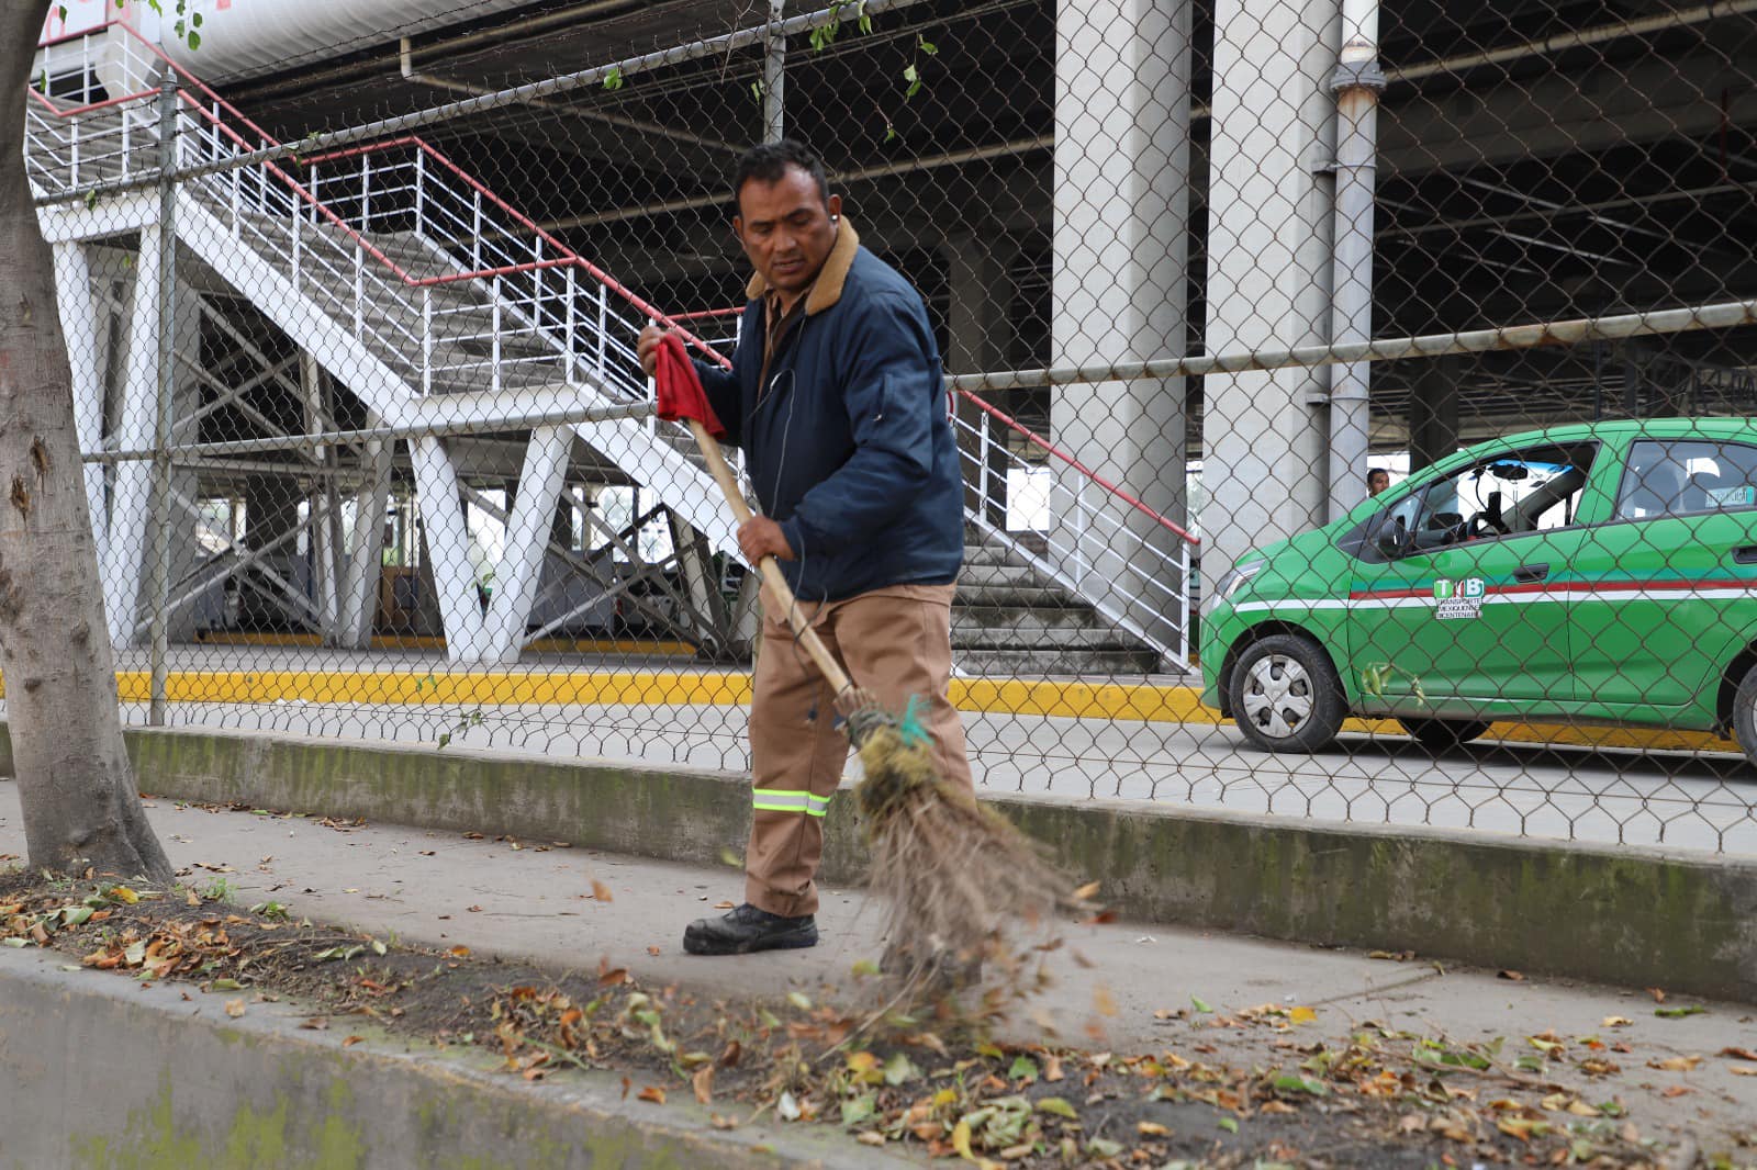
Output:
[[[125,25],[100,35],[107,39],[104,51],[123,60],[119,70],[111,70],[116,77],[160,77],[174,69]],[[123,81],[111,88],[128,86]],[[177,167],[227,163],[276,146],[188,74],[181,74],[179,98],[172,141]],[[84,105],[33,93],[33,186],[56,193],[155,174],[162,156],[158,111],[160,95],[151,88]],[[209,170],[176,186],[172,214],[177,242],[248,297],[378,423],[413,429],[462,422],[488,432],[501,422],[503,430],[529,432],[518,508],[508,516],[511,564],[503,566],[488,611],[478,611],[473,580],[466,581],[467,534],[446,443],[408,439],[453,659],[517,659],[543,576],[543,518],[553,515],[575,437],[664,501],[701,534],[706,550],[736,555],[719,492],[685,429],[650,418],[538,429],[517,423],[582,404],[645,402],[634,337],[648,320],[666,318],[430,144],[401,137],[299,162]],[[141,279],[148,278],[158,191],[135,188],[95,202],[61,202],[44,207],[42,218],[72,274],[63,278],[63,316],[77,311],[81,299],[74,285],[83,262],[67,248],[77,251],[83,241],[139,232]],[[137,295],[135,325],[149,330],[153,321],[139,316],[141,300]],[[77,330],[69,336],[76,344]],[[706,346],[701,351],[717,357]],[[137,416],[146,392],[132,385]],[[102,401],[102,386],[86,386],[84,394]],[[961,443],[973,448],[972,467],[982,476],[1024,466],[986,416],[979,429],[965,420],[959,425]],[[100,436],[88,434],[86,441],[98,443]],[[111,532],[144,518],[144,466],[116,473],[118,485],[132,488],[111,492],[127,504],[119,513],[111,504]],[[1188,545],[1168,555],[1161,552],[1165,541],[1142,539],[1144,506],[1109,485],[1109,492],[1095,490],[1093,480],[1081,478],[1074,488],[1068,515],[1079,531],[1061,539],[1051,534],[1040,548],[979,515],[986,509],[972,511],[980,536],[954,627],[965,669],[1010,673],[1030,662],[1042,673],[1137,673],[1186,657],[1188,613],[1177,610],[1177,597]],[[97,516],[97,502],[93,509]],[[529,548],[515,546],[515,532],[525,532],[520,539]],[[1123,545],[1132,552],[1117,552],[1119,536],[1133,541]],[[362,559],[365,550],[353,553]],[[121,564],[121,555],[112,562]],[[1107,589],[1084,587],[1093,571],[1103,574]],[[121,573],[107,587],[128,592],[127,576]],[[1170,583],[1168,592],[1160,587],[1163,597],[1151,589],[1154,580]],[[355,589],[364,583],[355,581]],[[118,639],[128,636],[134,618],[132,606],[121,610],[112,625]]]

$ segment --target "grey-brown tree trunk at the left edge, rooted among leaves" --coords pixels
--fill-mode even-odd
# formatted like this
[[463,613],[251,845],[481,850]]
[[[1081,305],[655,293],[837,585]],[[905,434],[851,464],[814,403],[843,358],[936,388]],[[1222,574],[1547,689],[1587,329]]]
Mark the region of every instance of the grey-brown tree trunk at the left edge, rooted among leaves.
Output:
[[0,675],[30,864],[169,884],[170,861],[141,810],[121,738],[54,260],[25,177],[25,86],[49,4],[0,5],[0,95],[12,95],[4,98],[12,114],[0,123],[0,256],[7,265],[0,283]]

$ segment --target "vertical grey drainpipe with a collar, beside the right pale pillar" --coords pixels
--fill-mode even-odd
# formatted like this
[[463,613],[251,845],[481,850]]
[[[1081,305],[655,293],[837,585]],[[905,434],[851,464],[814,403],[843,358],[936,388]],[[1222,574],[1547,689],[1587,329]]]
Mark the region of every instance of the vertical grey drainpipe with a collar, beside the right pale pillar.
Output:
[[[1342,0],[1335,93],[1335,244],[1330,260],[1330,343],[1372,337],[1372,200],[1377,172],[1377,0]],[[1367,495],[1369,362],[1330,367],[1330,518]]]

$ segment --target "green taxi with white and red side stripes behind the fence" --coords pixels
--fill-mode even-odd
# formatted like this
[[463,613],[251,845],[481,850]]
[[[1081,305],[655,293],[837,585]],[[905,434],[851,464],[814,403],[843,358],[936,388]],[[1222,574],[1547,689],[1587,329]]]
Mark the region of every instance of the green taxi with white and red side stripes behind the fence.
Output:
[[1209,604],[1204,703],[1272,752],[1365,715],[1430,748],[1502,719],[1732,733],[1757,762],[1757,420],[1481,443]]

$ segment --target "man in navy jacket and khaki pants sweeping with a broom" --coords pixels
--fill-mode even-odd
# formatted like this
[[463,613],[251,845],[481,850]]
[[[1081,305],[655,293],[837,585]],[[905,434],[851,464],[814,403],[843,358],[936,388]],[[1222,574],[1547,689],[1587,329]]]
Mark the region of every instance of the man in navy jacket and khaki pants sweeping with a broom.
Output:
[[[891,710],[924,704],[938,776],[970,792],[947,699],[963,478],[926,306],[861,246],[805,146],[747,151],[733,199],[733,234],[756,274],[733,369],[698,362],[696,372],[763,506],[740,525],[738,546],[752,566],[782,562],[803,617],[856,685]],[[661,337],[641,332],[648,374]],[[787,618],[764,589],[745,905],[691,922],[691,954],[817,943],[822,819],[849,743]]]

